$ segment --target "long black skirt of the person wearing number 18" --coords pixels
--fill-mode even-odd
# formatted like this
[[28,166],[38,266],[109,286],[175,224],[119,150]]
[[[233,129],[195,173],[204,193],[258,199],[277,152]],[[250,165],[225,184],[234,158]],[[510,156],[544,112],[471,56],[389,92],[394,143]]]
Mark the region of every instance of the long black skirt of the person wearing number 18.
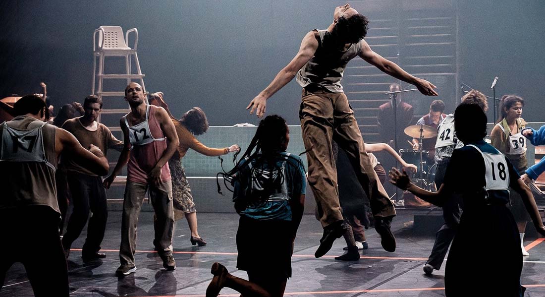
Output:
[[445,268],[446,296],[521,296],[522,250],[504,204],[464,208]]

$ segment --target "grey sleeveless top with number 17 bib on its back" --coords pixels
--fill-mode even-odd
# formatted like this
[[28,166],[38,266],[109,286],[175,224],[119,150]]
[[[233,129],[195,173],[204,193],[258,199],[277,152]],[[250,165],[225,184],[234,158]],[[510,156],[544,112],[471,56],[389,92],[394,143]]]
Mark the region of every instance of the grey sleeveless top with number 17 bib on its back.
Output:
[[0,209],[45,205],[59,211],[55,168],[56,127],[20,116],[0,125]]

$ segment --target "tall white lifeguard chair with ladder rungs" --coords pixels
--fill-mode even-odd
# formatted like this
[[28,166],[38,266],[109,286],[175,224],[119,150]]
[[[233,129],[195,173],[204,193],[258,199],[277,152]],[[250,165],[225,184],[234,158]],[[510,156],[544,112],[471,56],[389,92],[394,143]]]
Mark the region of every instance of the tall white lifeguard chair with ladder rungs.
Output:
[[[129,34],[134,32],[134,45],[129,47]],[[98,34],[97,34],[98,33]],[[100,26],[93,33],[93,95],[97,95],[99,98],[106,96],[124,96],[124,92],[114,91],[105,92],[102,87],[104,80],[126,80],[126,84],[129,84],[131,80],[140,80],[140,84],[143,90],[146,90],[144,86],[144,75],[140,69],[140,63],[138,63],[138,55],[136,49],[138,47],[138,30],[132,28],[125,33],[123,38],[123,29],[119,26]],[[123,74],[105,74],[104,73],[104,61],[106,57],[125,57],[125,73]],[[134,57],[134,63],[136,65],[136,74],[131,74],[131,63]],[[96,58],[99,60],[99,69],[96,72]],[[95,81],[98,80],[98,86],[95,88]],[[127,110],[103,110],[103,113],[126,113]]]

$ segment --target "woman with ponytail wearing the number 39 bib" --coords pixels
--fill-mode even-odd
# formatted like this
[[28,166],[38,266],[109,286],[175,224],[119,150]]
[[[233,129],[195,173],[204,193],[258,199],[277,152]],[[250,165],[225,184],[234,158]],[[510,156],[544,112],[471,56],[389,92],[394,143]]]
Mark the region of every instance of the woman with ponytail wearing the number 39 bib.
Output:
[[[521,133],[526,127],[526,122],[521,117],[523,107],[524,99],[515,95],[504,95],[500,101],[501,116],[490,133],[492,146],[511,161],[517,169],[518,174],[524,174],[526,169],[528,169],[526,138]],[[526,222],[530,220],[530,216],[524,208],[519,195],[515,191],[510,191],[510,195],[512,203],[511,211],[517,222],[520,234],[520,248],[522,248],[523,256],[529,256],[529,253],[524,248],[523,240]]]

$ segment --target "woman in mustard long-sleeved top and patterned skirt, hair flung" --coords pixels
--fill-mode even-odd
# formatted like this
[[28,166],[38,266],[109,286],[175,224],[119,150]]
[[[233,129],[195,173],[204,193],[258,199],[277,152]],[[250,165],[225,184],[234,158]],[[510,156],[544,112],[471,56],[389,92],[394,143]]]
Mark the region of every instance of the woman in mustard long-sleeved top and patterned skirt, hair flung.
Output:
[[172,200],[174,204],[174,220],[178,221],[185,216],[189,229],[191,231],[191,244],[198,246],[206,245],[206,241],[201,238],[197,230],[197,211],[193,196],[191,196],[191,188],[187,183],[184,167],[181,166],[181,159],[190,148],[197,153],[205,156],[221,156],[228,153],[233,153],[240,150],[237,144],[233,144],[227,148],[209,148],[199,142],[195,136],[202,135],[208,131],[208,119],[206,114],[199,107],[193,107],[191,110],[184,113],[181,119],[176,119],[168,109],[168,105],[163,100],[163,93],[157,92],[149,95],[149,103],[165,108],[168,115],[172,118],[174,128],[180,140],[180,146],[174,153],[172,158],[168,160],[168,167],[171,170],[172,176]]

